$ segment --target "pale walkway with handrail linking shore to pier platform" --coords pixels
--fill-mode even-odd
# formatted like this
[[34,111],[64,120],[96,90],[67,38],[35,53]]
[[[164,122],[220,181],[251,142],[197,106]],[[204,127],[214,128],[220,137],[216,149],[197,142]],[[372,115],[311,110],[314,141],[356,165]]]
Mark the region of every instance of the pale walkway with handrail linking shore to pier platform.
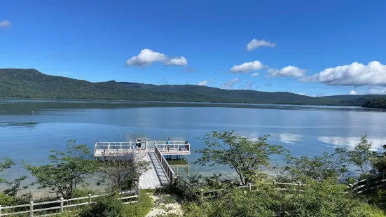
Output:
[[153,150],[142,150],[137,155],[144,155],[142,160],[151,162],[151,169],[139,178],[139,188],[141,189],[156,189],[163,188],[169,184],[167,176],[163,171]]

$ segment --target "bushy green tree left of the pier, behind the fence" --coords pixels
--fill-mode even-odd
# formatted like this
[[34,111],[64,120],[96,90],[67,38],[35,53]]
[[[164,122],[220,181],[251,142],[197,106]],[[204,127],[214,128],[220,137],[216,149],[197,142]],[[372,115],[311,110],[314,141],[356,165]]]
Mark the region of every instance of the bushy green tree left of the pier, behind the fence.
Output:
[[[67,142],[67,151],[50,151],[49,165],[25,165],[36,177],[39,188],[48,188],[64,198],[71,198],[74,190],[85,186],[85,179],[96,171],[95,161],[90,159],[87,145],[76,145],[75,140]],[[89,158],[89,159],[88,159]]]

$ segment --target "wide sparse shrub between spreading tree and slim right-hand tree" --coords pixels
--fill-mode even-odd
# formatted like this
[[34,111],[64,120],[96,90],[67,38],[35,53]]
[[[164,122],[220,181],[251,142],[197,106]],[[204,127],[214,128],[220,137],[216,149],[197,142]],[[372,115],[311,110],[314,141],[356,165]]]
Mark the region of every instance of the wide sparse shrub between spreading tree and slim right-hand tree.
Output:
[[324,152],[321,157],[300,158],[287,155],[280,179],[285,181],[339,181],[347,172],[347,151],[336,148],[335,153]]

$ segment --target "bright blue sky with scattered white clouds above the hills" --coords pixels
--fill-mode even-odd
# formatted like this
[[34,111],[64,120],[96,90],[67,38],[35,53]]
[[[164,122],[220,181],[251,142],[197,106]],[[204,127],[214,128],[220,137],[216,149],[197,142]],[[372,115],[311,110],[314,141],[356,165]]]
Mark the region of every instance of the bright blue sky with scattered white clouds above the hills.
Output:
[[0,68],[93,82],[386,93],[385,0],[0,5]]

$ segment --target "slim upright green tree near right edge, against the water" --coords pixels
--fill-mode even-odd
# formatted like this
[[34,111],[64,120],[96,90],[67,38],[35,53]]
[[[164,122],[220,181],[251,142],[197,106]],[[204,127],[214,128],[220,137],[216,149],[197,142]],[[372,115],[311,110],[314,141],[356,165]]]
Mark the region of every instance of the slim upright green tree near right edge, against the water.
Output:
[[361,176],[367,176],[371,172],[371,159],[375,157],[376,153],[371,151],[373,143],[367,140],[367,136],[361,136],[361,141],[354,147],[352,151],[348,152],[349,160],[358,167]]

